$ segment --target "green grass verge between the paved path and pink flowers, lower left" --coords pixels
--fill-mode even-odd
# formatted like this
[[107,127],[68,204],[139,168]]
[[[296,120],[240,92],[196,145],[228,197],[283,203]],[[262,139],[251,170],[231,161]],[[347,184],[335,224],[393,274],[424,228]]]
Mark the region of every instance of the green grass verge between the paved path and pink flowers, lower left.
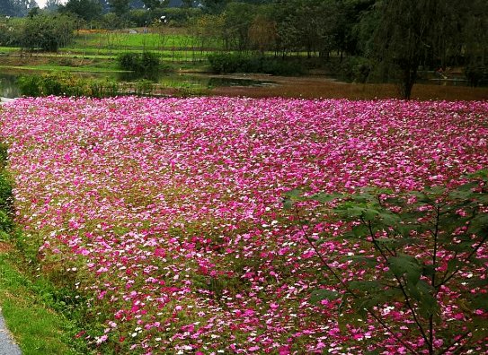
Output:
[[[33,270],[28,255],[35,260],[32,255],[37,255],[38,248],[24,248],[23,253],[16,249],[25,236],[13,225],[13,179],[5,171],[7,148],[0,144],[0,307],[5,324],[24,355],[89,354],[86,345],[75,338],[76,324],[81,322],[64,316],[74,308],[72,294]],[[81,319],[84,307],[77,309],[75,315]]]

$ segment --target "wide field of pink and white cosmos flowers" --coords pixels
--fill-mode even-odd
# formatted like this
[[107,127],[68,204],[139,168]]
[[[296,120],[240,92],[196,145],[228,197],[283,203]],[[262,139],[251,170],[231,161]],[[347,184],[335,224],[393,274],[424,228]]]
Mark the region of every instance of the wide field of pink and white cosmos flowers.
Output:
[[[407,353],[374,322],[340,327],[340,300],[309,301],[320,259],[283,194],[456,186],[488,167],[488,102],[50,97],[0,117],[17,222],[101,353]],[[339,256],[360,249],[320,246],[344,278],[360,271]],[[464,319],[456,290],[439,298]]]

